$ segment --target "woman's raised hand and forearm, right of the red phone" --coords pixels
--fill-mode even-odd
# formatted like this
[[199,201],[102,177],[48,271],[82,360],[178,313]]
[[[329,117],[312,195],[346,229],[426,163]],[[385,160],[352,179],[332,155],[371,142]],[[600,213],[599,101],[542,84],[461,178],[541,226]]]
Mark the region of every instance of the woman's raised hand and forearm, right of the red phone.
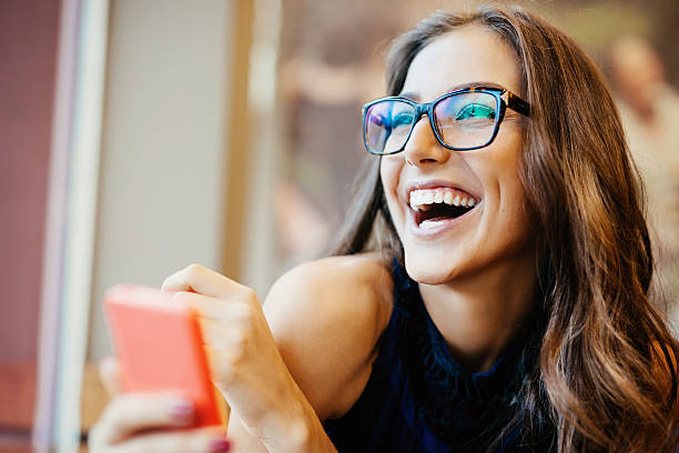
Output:
[[179,291],[176,301],[199,314],[212,379],[243,426],[270,451],[305,450],[322,426],[285,366],[255,293],[197,264],[162,288]]

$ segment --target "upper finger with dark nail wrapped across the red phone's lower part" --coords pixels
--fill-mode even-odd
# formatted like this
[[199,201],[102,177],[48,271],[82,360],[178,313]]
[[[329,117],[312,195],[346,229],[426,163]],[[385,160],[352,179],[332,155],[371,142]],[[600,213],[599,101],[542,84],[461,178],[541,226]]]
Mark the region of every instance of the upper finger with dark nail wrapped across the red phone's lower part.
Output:
[[107,406],[93,436],[98,444],[111,444],[139,431],[190,426],[193,411],[193,403],[175,395],[122,394]]

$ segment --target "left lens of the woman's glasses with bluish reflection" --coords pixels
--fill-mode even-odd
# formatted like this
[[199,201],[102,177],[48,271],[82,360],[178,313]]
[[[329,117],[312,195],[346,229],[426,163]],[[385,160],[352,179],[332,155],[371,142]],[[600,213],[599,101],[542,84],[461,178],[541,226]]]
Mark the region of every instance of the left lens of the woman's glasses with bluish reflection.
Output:
[[365,138],[377,154],[398,151],[408,138],[415,109],[407,102],[385,100],[371,105],[365,118]]

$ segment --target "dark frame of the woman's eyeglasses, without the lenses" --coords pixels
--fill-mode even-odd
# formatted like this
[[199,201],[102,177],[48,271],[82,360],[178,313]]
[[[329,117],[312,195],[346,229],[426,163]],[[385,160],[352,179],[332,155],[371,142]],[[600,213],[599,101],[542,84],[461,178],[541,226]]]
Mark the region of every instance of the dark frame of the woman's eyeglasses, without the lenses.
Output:
[[[493,129],[493,134],[490,135],[490,139],[486,143],[478,145],[478,147],[468,147],[468,148],[450,147],[443,141],[443,138],[440,137],[440,133],[438,132],[438,128],[436,127],[436,123],[434,122],[434,108],[436,107],[436,104],[438,104],[439,102],[448,98],[452,98],[458,94],[470,93],[475,91],[487,92],[495,97],[496,115],[495,115],[495,124]],[[504,94],[507,94],[507,101],[503,99]],[[408,137],[405,139],[405,141],[403,142],[403,145],[398,150],[392,151],[392,152],[373,152],[371,151],[371,147],[368,145],[368,142],[367,142],[367,131],[366,131],[367,124],[365,120],[367,117],[368,109],[375,105],[376,103],[384,102],[384,101],[402,101],[407,104],[411,104],[412,107],[415,108],[415,121],[413,121],[413,124],[411,125],[411,130],[408,131]],[[415,102],[408,98],[402,98],[398,95],[389,95],[386,98],[379,98],[379,99],[376,99],[363,105],[363,114],[362,114],[363,143],[367,152],[369,152],[373,155],[391,155],[391,154],[399,153],[401,151],[405,149],[406,144],[408,143],[408,140],[411,140],[411,135],[413,134],[413,129],[415,129],[415,124],[417,124],[422,115],[426,113],[429,119],[429,125],[432,127],[432,130],[434,131],[434,135],[436,137],[436,140],[438,141],[438,143],[440,143],[442,147],[453,150],[453,151],[478,150],[480,148],[485,148],[489,145],[490,143],[493,143],[493,140],[495,140],[495,137],[497,135],[497,132],[499,130],[499,125],[503,122],[503,119],[505,118],[505,110],[507,110],[507,108],[514,110],[517,113],[523,114],[524,117],[530,117],[530,104],[524,101],[518,95],[514,94],[511,91],[507,90],[506,88],[470,87],[470,88],[465,88],[463,90],[452,91],[449,93],[442,95],[440,98],[433,100],[432,102],[426,102],[426,103]]]

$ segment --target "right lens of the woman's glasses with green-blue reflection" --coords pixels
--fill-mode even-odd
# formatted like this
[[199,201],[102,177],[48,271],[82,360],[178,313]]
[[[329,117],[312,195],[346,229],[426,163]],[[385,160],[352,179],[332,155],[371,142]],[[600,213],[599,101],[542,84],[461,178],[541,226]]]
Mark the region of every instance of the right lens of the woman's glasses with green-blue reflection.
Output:
[[493,138],[498,110],[497,99],[490,93],[454,94],[435,105],[436,129],[449,147],[483,147]]

